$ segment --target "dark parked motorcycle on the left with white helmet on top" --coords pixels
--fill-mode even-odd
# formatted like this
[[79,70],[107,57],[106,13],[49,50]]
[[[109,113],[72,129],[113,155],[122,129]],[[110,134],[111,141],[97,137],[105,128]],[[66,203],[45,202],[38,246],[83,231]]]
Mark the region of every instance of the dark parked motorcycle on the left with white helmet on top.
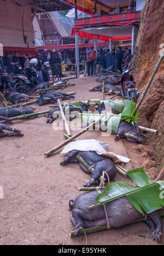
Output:
[[24,68],[22,74],[13,75],[13,81],[11,86],[14,88],[14,92],[21,94],[31,95],[34,88],[39,84],[37,77],[38,73],[35,71],[34,66],[37,66],[38,61],[32,59],[30,66]]

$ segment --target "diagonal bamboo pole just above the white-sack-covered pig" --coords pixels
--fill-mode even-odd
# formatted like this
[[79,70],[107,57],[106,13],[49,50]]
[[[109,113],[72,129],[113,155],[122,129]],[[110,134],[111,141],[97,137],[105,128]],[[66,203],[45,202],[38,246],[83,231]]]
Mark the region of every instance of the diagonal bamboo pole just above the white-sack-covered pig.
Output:
[[[101,117],[102,118],[102,117]],[[55,153],[58,149],[61,149],[62,147],[66,146],[69,142],[73,141],[75,138],[78,138],[81,134],[83,134],[84,132],[86,132],[87,130],[90,129],[90,127],[92,127],[93,125],[97,124],[98,121],[101,120],[101,118],[99,118],[98,120],[96,120],[93,124],[90,124],[89,126],[87,126],[85,129],[81,130],[80,132],[78,132],[77,134],[75,134],[74,136],[72,136],[71,138],[67,139],[67,141],[62,142],[61,144],[59,144],[58,146],[56,146],[55,148],[52,148],[51,150],[49,150],[48,152],[45,153],[45,157],[48,157],[50,155],[52,155],[53,153]]]

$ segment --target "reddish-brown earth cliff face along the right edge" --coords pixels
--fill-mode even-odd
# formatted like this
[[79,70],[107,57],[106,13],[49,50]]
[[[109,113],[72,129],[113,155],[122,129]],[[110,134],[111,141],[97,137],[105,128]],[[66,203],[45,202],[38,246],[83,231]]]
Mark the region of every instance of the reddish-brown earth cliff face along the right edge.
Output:
[[[136,42],[132,66],[138,88],[143,92],[164,50],[164,1],[147,0]],[[141,93],[142,94],[142,93]],[[149,133],[150,143],[164,164],[164,61],[139,109],[139,124],[159,131]]]

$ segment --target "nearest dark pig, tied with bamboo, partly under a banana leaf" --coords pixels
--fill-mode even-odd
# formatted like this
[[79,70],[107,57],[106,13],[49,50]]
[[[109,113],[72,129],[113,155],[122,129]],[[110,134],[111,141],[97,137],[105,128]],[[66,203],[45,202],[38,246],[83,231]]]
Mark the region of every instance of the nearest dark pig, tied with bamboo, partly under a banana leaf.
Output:
[[[75,226],[75,235],[77,235],[81,229],[92,228],[95,226],[107,225],[106,214],[103,205],[97,206],[92,210],[88,210],[89,206],[97,203],[96,198],[98,196],[97,191],[82,194],[73,201],[69,201],[69,210],[73,210],[71,222]],[[71,204],[73,202],[73,205]],[[127,197],[121,197],[114,201],[105,204],[109,225],[113,228],[120,228],[121,226],[137,222],[142,219],[140,214],[127,200]],[[152,240],[157,242],[161,241],[162,236],[162,223],[160,212],[154,211],[149,215],[150,219],[144,220],[150,228],[150,235]]]

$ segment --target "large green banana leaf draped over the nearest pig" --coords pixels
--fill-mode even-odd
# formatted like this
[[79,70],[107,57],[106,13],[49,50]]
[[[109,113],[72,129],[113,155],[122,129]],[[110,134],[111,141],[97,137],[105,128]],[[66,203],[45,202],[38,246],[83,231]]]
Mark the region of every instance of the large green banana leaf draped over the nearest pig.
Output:
[[164,196],[160,194],[164,190],[164,182],[154,182],[147,176],[143,168],[127,171],[127,175],[139,187],[133,187],[126,182],[111,183],[97,196],[96,205],[89,207],[89,209],[122,196],[126,196],[133,207],[143,215],[144,212],[149,214],[164,207]]

